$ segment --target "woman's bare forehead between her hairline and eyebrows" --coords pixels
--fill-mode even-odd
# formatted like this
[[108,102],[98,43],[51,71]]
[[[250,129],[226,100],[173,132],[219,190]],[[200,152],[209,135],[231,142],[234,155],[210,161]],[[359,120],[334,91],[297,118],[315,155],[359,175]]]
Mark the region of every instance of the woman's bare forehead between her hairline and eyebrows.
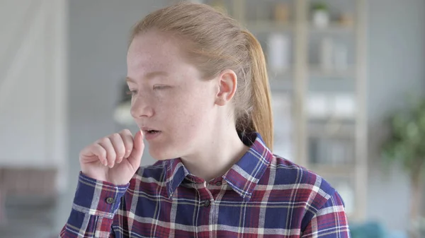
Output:
[[159,71],[183,61],[176,37],[160,32],[145,32],[131,42],[127,54],[129,71]]

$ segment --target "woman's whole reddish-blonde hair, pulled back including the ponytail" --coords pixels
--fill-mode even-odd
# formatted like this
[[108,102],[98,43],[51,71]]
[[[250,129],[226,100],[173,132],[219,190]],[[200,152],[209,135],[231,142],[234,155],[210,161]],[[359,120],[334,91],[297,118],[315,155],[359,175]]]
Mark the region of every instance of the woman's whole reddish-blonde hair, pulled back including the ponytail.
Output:
[[266,60],[254,35],[215,8],[187,1],[147,15],[133,28],[130,42],[147,30],[181,38],[187,59],[205,78],[232,69],[237,75],[233,101],[237,132],[256,131],[272,149],[273,116]]

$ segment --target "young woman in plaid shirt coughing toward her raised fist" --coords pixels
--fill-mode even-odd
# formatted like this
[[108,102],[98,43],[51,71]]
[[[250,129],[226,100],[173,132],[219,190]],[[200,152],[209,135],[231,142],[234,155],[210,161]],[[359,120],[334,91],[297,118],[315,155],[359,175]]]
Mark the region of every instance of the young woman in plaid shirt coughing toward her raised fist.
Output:
[[263,51],[235,20],[202,4],[154,11],[127,64],[141,131],[81,150],[60,237],[349,237],[337,191],[273,155]]

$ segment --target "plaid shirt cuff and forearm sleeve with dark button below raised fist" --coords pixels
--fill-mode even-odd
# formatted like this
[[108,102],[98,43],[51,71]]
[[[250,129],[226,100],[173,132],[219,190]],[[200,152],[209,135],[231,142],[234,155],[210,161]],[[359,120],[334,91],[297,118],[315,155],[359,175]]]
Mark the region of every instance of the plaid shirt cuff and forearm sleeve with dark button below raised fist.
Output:
[[129,184],[116,186],[80,172],[71,214],[60,237],[115,237],[113,218]]

